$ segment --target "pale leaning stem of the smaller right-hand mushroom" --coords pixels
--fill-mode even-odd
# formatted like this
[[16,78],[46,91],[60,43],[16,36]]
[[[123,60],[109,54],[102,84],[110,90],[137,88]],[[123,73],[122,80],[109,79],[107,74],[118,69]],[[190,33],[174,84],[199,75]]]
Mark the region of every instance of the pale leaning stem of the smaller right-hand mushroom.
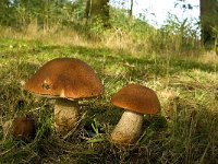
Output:
[[125,110],[111,133],[111,140],[114,143],[133,143],[141,134],[142,125],[142,114]]

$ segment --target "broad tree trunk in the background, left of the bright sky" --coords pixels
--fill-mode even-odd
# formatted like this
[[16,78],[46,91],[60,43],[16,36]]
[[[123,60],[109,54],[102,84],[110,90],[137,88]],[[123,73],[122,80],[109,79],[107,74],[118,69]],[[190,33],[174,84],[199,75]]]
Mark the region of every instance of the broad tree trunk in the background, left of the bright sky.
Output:
[[104,26],[109,25],[109,0],[87,0],[85,19],[87,24],[97,21],[102,22]]

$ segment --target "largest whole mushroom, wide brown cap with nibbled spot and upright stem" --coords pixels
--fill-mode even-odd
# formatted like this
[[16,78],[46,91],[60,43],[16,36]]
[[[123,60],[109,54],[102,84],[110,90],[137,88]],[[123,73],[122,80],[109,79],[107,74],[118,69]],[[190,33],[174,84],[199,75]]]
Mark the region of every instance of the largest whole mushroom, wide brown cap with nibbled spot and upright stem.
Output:
[[57,58],[45,63],[26,83],[35,94],[55,97],[55,127],[70,131],[78,120],[78,98],[104,93],[95,71],[75,58]]

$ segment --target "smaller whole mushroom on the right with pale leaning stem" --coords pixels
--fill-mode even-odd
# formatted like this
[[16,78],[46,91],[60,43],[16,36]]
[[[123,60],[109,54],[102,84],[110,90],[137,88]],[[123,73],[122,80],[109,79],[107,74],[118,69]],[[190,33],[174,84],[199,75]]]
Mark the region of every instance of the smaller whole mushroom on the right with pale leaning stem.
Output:
[[114,106],[124,108],[121,119],[111,133],[114,143],[134,143],[142,131],[144,114],[160,112],[156,93],[140,84],[128,84],[111,98]]

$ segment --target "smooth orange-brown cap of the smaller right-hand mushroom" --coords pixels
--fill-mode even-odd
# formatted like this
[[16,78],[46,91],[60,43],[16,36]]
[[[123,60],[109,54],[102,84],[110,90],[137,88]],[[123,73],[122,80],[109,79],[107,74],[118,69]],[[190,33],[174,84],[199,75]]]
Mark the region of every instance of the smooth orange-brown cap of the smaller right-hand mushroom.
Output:
[[112,104],[140,114],[156,114],[160,103],[156,93],[140,84],[129,84],[112,96]]

